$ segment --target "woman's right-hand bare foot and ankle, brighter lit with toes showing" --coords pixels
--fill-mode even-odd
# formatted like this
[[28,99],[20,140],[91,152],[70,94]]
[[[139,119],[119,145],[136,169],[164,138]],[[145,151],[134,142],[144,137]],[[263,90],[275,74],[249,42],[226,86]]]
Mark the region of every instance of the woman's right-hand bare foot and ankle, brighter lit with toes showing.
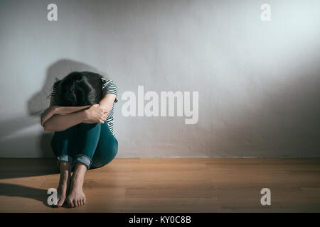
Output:
[[85,165],[80,165],[75,168],[75,173],[71,177],[70,192],[67,197],[67,203],[70,207],[85,205],[85,194],[82,190],[85,170]]

